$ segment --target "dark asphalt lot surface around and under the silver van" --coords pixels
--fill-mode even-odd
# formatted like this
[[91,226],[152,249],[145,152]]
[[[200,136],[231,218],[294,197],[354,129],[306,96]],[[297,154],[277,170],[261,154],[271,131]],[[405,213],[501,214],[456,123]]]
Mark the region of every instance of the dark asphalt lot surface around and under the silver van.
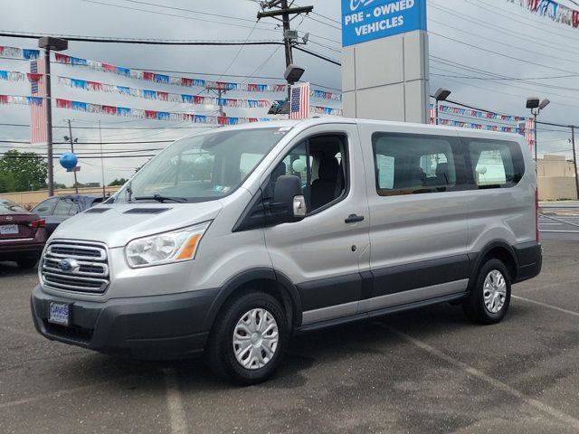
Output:
[[35,272],[0,264],[2,433],[579,432],[579,242],[544,241],[508,316],[448,304],[295,336],[261,385],[199,361],[146,363],[34,331]]

